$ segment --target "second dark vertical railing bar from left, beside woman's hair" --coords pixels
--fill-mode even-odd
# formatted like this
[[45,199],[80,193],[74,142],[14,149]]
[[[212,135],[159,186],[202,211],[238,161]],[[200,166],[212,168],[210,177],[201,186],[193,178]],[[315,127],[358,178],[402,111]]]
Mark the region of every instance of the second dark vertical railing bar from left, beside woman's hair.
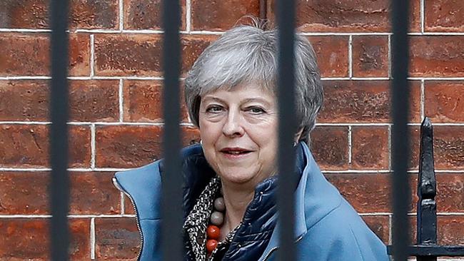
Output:
[[163,1],[163,151],[165,168],[162,186],[161,247],[163,260],[183,260],[182,243],[182,190],[181,175],[181,135],[179,129],[179,77],[180,77],[180,39],[181,24],[178,0]]

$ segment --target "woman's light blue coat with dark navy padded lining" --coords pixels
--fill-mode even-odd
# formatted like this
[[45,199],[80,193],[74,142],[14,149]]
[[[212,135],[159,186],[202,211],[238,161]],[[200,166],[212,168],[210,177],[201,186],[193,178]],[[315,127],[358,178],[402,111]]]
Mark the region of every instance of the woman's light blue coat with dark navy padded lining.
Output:
[[[389,260],[383,242],[365,225],[338,190],[324,178],[307,145],[299,144],[300,158],[303,158],[304,164],[295,192],[297,260]],[[142,240],[139,253],[141,261],[161,260],[159,231],[162,170],[162,160],[158,160],[141,168],[116,173],[114,178],[116,187],[131,198],[136,210]],[[192,188],[186,187],[187,191],[184,188],[184,199],[188,198],[185,197],[186,193],[198,195],[203,190],[209,178],[198,181],[198,177],[208,176],[204,175],[208,172],[211,169],[204,159],[200,145],[192,145],[183,150],[183,173],[186,175],[186,183],[193,184]],[[193,175],[189,175],[190,173]],[[191,202],[184,202],[184,208],[191,207],[193,203],[194,198]],[[262,224],[255,228],[259,230],[260,225]],[[276,259],[279,227],[277,222],[263,254],[258,258],[259,261]],[[241,260],[250,260],[246,251],[241,254]]]

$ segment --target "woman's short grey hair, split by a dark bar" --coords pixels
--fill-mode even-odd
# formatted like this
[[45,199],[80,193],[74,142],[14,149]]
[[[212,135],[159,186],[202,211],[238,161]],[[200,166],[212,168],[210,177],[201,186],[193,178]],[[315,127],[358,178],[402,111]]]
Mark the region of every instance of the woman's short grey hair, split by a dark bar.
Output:
[[[218,88],[256,83],[277,92],[278,32],[240,25],[226,31],[198,57],[185,79],[188,115],[198,127],[201,96]],[[308,39],[295,35],[295,107],[300,140],[309,133],[323,103],[321,75]]]

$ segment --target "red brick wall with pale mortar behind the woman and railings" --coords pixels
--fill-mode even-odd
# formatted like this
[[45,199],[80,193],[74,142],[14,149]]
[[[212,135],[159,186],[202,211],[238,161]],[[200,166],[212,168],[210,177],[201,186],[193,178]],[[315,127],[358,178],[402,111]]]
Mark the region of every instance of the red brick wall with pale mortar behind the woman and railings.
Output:
[[[0,260],[49,259],[48,2],[0,3]],[[131,260],[138,251],[131,205],[111,177],[161,156],[160,2],[72,1],[72,260]],[[315,156],[390,243],[389,1],[297,2],[298,25],[316,49],[326,92]],[[430,116],[439,241],[464,244],[464,1],[410,2],[411,186],[415,194],[418,129]],[[183,72],[221,32],[245,14],[258,16],[260,7],[258,0],[181,5]],[[267,10],[273,20],[271,0]],[[182,125],[185,144],[198,138],[185,108]]]

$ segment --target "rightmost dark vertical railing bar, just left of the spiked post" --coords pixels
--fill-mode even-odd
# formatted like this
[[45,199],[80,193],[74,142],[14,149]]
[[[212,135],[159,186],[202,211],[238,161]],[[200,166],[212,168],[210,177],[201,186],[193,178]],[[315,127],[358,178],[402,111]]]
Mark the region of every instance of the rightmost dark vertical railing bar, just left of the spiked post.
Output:
[[409,1],[392,0],[392,115],[393,115],[393,258],[408,259],[408,208],[410,188],[408,180],[409,162]]

